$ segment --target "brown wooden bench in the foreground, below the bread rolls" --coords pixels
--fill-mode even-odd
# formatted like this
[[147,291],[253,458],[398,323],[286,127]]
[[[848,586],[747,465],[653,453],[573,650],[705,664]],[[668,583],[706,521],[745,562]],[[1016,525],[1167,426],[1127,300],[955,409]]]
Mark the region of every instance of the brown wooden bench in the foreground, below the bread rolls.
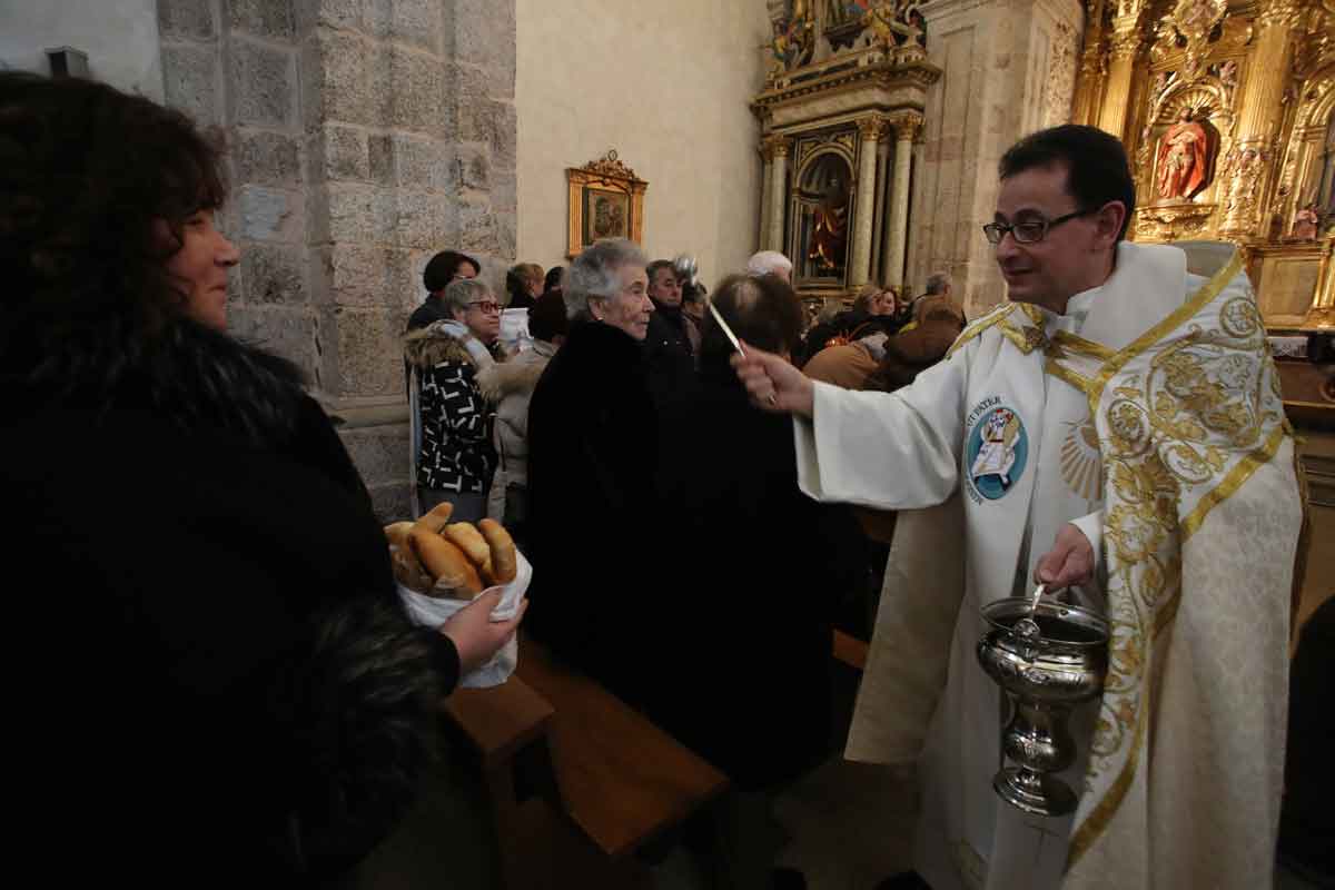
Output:
[[[509,682],[458,690],[445,714],[482,771],[506,887],[555,886],[553,871],[571,886],[646,886],[629,854],[728,787],[722,773],[531,639],[521,639]],[[578,838],[561,837],[562,819]]]

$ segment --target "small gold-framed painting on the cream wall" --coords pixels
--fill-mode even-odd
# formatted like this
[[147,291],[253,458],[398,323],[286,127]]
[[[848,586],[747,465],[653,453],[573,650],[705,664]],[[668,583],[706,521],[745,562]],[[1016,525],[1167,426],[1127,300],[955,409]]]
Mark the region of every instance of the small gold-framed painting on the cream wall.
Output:
[[645,189],[615,151],[583,167],[566,169],[570,184],[570,238],[566,256],[574,259],[599,238],[629,238],[643,243]]

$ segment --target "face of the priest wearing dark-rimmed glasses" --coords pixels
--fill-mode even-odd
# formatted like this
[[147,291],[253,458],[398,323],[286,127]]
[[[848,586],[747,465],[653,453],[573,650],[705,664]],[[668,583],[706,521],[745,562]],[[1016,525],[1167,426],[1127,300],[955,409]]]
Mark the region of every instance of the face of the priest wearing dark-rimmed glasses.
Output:
[[[1120,228],[1121,216],[1116,211],[1112,216]],[[1031,167],[1001,180],[993,221],[1039,223],[1040,230],[1045,228],[1040,240],[1028,243],[1007,232],[995,248],[1012,300],[1065,314],[1067,300],[1103,284],[1112,271],[1117,228],[1109,231],[1107,211],[1080,207],[1067,192],[1065,164]]]

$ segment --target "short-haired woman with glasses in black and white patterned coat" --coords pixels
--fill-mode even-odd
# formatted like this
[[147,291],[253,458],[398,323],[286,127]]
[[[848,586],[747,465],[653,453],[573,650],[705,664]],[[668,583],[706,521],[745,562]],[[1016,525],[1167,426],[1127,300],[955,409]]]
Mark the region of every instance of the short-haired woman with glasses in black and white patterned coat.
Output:
[[501,304],[475,279],[445,288],[449,320],[433,322],[403,339],[413,368],[410,416],[417,464],[414,479],[421,510],[449,500],[455,522],[487,515],[487,490],[497,466],[491,446],[493,408],[478,390],[478,372],[503,358],[497,340]]

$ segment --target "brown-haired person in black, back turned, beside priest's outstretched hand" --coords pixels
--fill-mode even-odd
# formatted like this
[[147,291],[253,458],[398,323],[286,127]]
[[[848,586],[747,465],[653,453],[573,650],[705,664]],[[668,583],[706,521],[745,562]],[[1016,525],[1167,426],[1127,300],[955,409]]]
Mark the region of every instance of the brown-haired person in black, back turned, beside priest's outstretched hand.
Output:
[[[789,355],[800,344],[801,304],[781,279],[733,275],[713,302],[748,346]],[[650,717],[728,774],[742,798],[721,811],[745,819],[829,753],[832,622],[862,544],[846,507],[798,490],[792,424],[749,407],[733,354],[706,318],[700,396],[665,424],[665,455],[705,446],[708,456],[661,462],[663,526],[692,548],[654,563],[662,588],[651,651],[670,659],[672,686]],[[754,861],[764,829],[740,831],[752,841],[728,851],[734,869],[768,871],[774,850],[760,845]]]

